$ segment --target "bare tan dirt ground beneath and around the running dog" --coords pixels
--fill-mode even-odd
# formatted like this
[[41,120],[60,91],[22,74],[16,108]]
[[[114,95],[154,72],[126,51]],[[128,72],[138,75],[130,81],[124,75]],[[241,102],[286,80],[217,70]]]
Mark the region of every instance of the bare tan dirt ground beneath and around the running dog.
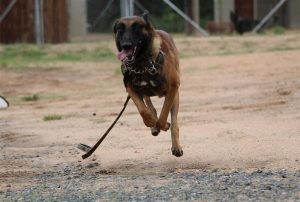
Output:
[[[182,74],[179,124],[184,155],[180,158],[171,154],[170,131],[152,136],[130,101],[95,154],[81,159],[77,144],[92,146],[125,101],[117,60],[55,62],[26,71],[0,68],[0,94],[11,102],[9,109],[0,110],[2,199],[9,199],[9,192],[39,186],[45,179],[80,181],[89,173],[117,179],[147,176],[155,184],[165,183],[157,176],[172,172],[299,171],[299,38],[299,33],[176,38]],[[114,49],[113,41],[109,43]],[[42,96],[21,101],[30,94]],[[154,98],[158,111],[162,101]],[[51,114],[62,119],[43,120]],[[78,167],[80,173],[72,174]],[[58,171],[68,176],[54,180]]]

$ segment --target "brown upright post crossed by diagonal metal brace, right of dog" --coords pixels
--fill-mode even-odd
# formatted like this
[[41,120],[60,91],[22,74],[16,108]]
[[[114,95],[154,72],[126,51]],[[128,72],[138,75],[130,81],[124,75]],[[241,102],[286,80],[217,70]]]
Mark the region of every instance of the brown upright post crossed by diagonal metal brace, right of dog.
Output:
[[[199,16],[199,0],[186,0],[186,14],[189,16],[194,22],[199,25],[200,16]],[[195,35],[197,30],[190,23],[186,23],[186,34],[187,35]]]

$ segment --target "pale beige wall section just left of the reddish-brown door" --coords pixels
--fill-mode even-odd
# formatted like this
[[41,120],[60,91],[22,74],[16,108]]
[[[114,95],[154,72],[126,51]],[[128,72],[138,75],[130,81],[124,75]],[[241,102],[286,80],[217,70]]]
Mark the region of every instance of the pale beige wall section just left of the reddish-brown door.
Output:
[[230,11],[234,11],[234,0],[214,0],[215,22],[230,22]]

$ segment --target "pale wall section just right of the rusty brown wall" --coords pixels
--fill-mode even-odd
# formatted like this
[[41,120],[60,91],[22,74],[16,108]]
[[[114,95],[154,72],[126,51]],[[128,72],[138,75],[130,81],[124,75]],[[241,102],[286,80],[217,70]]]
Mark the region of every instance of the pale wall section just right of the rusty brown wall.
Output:
[[69,35],[80,37],[87,34],[87,1],[69,0]]

